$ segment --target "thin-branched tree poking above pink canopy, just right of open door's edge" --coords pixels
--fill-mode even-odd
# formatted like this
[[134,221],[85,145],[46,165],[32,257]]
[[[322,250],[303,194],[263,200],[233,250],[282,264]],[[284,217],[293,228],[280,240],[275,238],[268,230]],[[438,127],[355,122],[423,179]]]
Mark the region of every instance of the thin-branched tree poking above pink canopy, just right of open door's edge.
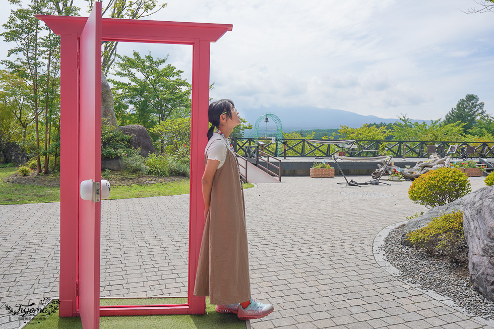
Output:
[[[64,1],[67,2],[67,0]],[[94,0],[85,1],[89,5],[88,13],[90,13],[93,9]],[[156,8],[157,3],[157,0],[130,0],[129,3],[127,2],[127,0],[109,0],[106,8],[101,9],[101,16],[108,12],[109,18],[139,19],[141,17],[155,14],[161,9],[165,8],[167,5],[166,3],[161,4],[156,11],[149,13]],[[103,41],[102,45],[103,51],[101,52],[101,71],[103,71],[106,76],[113,62],[115,61],[116,46],[118,45],[118,41]]]

